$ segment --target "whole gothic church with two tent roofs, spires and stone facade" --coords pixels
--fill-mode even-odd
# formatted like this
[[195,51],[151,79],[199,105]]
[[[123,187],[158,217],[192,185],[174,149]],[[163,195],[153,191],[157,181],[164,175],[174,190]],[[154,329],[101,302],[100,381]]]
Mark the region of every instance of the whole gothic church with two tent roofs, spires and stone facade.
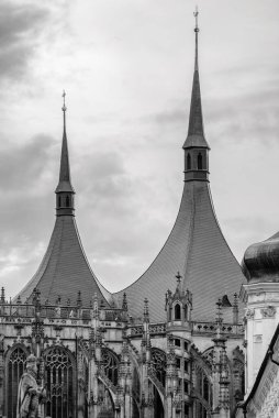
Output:
[[[46,388],[44,417],[228,418],[243,400],[238,296],[246,278],[213,208],[198,42],[197,21],[178,216],[146,272],[115,294],[96,277],[79,237],[64,97],[51,241],[18,296],[8,301],[4,288],[0,295],[0,417],[16,418],[30,354]],[[252,287],[245,287],[248,298],[256,292]]]

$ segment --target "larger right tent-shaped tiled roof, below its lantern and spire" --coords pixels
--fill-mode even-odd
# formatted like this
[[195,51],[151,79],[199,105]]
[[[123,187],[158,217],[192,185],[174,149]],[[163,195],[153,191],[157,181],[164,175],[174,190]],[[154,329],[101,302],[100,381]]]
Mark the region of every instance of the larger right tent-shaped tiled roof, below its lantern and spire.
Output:
[[215,218],[207,182],[187,182],[175,226],[161,251],[147,271],[131,286],[114,296],[121,302],[127,296],[129,312],[142,316],[148,297],[152,321],[164,321],[165,294],[175,289],[176,272],[183,288],[192,293],[192,319],[215,319],[215,304],[223,295],[233,300],[244,276]]

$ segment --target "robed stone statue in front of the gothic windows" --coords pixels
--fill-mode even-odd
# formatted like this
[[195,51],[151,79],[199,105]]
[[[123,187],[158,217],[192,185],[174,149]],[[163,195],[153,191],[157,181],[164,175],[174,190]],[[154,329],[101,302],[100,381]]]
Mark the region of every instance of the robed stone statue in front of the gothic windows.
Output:
[[16,418],[43,418],[38,405],[45,398],[45,391],[37,385],[37,360],[34,354],[27,356],[26,372],[19,384]]

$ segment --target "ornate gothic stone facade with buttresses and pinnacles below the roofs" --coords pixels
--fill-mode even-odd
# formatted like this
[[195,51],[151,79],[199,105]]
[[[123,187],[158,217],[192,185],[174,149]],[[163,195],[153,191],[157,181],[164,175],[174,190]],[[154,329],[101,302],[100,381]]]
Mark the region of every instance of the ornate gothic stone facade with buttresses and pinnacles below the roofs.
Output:
[[193,322],[190,306],[183,318],[175,307],[169,316],[189,296],[168,295],[160,323],[149,322],[146,299],[142,322],[133,323],[126,300],[108,309],[94,297],[88,309],[80,299],[42,304],[36,290],[32,304],[11,304],[2,293],[0,416],[15,418],[18,383],[34,353],[52,418],[223,417],[222,406],[230,417],[243,396],[243,327]]

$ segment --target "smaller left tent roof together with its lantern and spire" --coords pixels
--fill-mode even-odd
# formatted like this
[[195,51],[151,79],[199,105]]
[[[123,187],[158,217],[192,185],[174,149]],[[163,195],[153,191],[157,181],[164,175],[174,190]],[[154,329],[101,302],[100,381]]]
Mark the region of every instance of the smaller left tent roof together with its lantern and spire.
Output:
[[70,302],[75,304],[80,292],[82,306],[89,307],[92,297],[97,294],[99,300],[103,300],[104,306],[108,307],[107,299],[109,299],[110,294],[100,285],[89,266],[74,217],[75,191],[70,182],[65,92],[63,96],[64,133],[59,182],[55,190],[57,195],[56,222],[45,256],[37,272],[16,298],[20,296],[25,301],[36,287],[41,292],[42,302],[47,299],[49,304],[55,304],[59,296],[62,302],[66,304],[70,299]]

